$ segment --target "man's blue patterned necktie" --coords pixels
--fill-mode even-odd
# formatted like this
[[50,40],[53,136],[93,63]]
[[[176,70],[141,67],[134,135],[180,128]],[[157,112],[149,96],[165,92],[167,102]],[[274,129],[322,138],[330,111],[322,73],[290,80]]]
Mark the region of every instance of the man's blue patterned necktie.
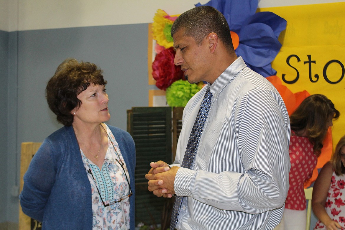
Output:
[[[211,97],[212,93],[210,92],[210,89],[208,89],[205,93],[203,102],[201,102],[200,109],[195,119],[192,131],[190,132],[186,153],[181,164],[181,167],[183,168],[190,169],[192,162],[194,160],[195,152],[198,147],[201,133],[204,129],[204,124],[207,118],[208,111],[210,109]],[[171,213],[170,230],[174,230],[176,227],[178,213],[180,211],[182,204],[182,198],[183,197],[175,197],[174,208],[172,208]]]

